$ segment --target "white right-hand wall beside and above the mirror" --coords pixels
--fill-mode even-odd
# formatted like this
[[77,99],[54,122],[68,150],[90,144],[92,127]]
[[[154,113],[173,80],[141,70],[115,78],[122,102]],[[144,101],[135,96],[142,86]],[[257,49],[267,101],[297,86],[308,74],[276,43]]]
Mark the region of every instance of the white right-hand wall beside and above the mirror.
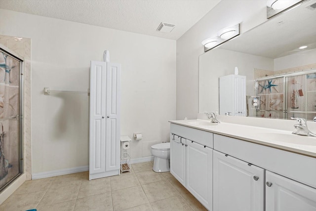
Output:
[[177,40],[177,119],[198,113],[198,56],[201,42],[225,27],[240,25],[240,33],[265,22],[266,0],[222,0]]

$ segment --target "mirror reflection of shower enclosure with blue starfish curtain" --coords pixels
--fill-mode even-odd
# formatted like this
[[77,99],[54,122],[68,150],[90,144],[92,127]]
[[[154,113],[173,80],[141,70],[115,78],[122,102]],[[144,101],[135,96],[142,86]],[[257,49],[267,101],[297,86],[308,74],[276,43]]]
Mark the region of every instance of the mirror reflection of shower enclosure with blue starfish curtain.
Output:
[[260,107],[257,117],[316,117],[316,69],[255,80]]

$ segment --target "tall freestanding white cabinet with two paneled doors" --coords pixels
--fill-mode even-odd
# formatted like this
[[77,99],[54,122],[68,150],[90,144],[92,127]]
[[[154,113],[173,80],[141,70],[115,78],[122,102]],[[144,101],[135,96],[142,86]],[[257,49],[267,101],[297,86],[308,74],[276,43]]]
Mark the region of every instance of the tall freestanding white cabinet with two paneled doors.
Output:
[[119,173],[120,65],[91,61],[89,179]]

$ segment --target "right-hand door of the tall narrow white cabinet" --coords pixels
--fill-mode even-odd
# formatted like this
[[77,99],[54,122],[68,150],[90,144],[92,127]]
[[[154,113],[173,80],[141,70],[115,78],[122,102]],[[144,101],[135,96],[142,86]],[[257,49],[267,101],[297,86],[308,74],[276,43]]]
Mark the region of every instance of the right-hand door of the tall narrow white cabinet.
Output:
[[120,64],[107,63],[106,171],[119,170]]

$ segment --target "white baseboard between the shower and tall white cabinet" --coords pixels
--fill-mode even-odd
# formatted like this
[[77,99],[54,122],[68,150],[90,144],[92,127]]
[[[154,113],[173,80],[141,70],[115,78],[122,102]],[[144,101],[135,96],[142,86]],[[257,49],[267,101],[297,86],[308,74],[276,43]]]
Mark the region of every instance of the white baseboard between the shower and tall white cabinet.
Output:
[[65,175],[65,174],[70,174],[70,173],[78,173],[78,172],[87,171],[87,170],[89,170],[89,166],[51,170],[51,171],[40,172],[40,173],[32,173],[32,179],[41,179],[41,178],[47,178],[47,177],[52,177],[52,176],[60,176],[60,175]]

